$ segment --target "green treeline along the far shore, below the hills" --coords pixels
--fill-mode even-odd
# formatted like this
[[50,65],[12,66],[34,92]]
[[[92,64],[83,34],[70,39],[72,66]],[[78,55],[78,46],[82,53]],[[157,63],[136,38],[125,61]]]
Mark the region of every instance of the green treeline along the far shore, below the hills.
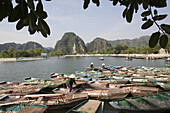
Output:
[[[170,48],[170,43],[166,47]],[[127,45],[116,45],[114,47],[109,47],[103,49],[99,52],[89,52],[89,54],[157,54],[160,50],[160,46],[150,48],[149,46],[139,46],[139,47],[128,47]],[[12,57],[38,57],[41,53],[47,53],[46,50],[40,48],[30,49],[30,50],[14,50],[10,47],[8,50],[3,50],[0,53],[1,58],[12,58]],[[52,51],[47,56],[61,56],[63,53],[61,51]]]

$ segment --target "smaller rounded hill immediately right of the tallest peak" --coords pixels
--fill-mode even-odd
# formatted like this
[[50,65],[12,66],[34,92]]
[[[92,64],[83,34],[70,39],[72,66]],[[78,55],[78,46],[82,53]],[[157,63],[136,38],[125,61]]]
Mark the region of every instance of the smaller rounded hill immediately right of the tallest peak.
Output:
[[87,44],[88,52],[99,52],[100,50],[108,47],[112,47],[112,45],[102,38],[95,38],[92,42]]

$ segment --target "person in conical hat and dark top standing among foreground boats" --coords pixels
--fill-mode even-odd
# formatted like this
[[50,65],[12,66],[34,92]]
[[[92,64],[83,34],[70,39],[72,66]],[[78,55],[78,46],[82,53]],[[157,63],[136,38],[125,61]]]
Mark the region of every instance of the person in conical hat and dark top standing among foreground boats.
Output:
[[68,88],[68,92],[71,92],[72,89],[73,89],[73,83],[76,84],[76,81],[75,81],[75,75],[74,74],[71,74],[69,76],[69,79],[66,81],[66,86]]

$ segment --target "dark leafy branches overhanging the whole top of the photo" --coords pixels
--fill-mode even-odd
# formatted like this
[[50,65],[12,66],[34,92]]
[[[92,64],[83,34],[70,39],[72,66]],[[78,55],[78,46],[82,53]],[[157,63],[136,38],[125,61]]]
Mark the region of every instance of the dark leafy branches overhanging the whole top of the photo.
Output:
[[[46,0],[51,1],[51,0]],[[84,0],[83,8],[88,8],[90,2],[100,6],[100,0]],[[139,6],[142,5],[144,12],[141,14],[144,24],[141,29],[148,29],[153,24],[158,27],[158,31],[154,32],[149,40],[149,46],[155,47],[159,42],[162,48],[165,48],[168,43],[168,34],[170,34],[170,25],[161,24],[157,21],[161,21],[167,17],[167,14],[158,14],[158,8],[167,7],[167,0],[109,0],[113,3],[113,6],[120,4],[124,6],[123,18],[127,22],[131,23],[133,14],[138,13]],[[38,2],[38,3],[36,3]],[[13,4],[16,4],[13,8]],[[155,8],[153,10],[153,8]],[[43,10],[43,4],[41,0],[15,0],[12,3],[11,0],[0,0],[0,21],[8,17],[8,22],[17,22],[16,29],[20,30],[27,26],[29,33],[32,35],[35,32],[41,32],[44,37],[50,35],[50,28],[45,22],[47,13]]]

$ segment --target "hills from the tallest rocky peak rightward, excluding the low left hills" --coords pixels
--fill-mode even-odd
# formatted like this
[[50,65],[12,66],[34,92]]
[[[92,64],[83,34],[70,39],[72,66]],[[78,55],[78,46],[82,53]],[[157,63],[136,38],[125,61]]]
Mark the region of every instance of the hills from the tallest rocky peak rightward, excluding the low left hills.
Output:
[[143,46],[149,42],[149,36],[142,36],[135,39],[123,39],[107,41],[103,38],[95,38],[92,42],[85,45],[84,41],[73,32],[65,33],[54,48],[54,51],[61,51],[63,54],[77,54],[87,52],[98,52],[108,47],[114,47],[117,44],[131,47]]

